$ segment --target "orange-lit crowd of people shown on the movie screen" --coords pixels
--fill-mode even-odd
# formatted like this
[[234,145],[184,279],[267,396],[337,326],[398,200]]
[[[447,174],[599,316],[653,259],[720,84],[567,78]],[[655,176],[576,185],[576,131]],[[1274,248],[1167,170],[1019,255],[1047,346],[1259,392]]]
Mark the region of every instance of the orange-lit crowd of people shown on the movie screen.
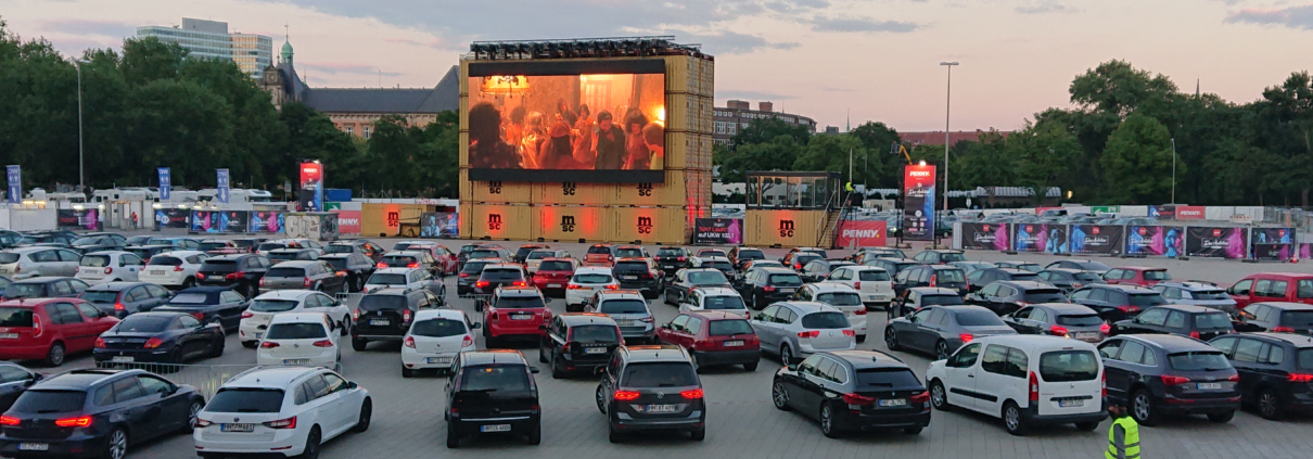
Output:
[[551,114],[470,108],[470,168],[650,170],[662,169],[664,156],[666,129],[638,109],[617,118],[565,100]]

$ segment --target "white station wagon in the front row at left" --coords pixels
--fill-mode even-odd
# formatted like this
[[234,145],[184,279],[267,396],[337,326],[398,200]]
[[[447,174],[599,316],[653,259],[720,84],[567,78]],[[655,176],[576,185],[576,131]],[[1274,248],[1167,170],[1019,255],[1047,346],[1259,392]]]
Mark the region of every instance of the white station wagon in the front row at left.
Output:
[[314,458],[322,443],[369,429],[372,417],[369,391],[337,372],[257,367],[219,387],[197,413],[192,441],[201,456]]

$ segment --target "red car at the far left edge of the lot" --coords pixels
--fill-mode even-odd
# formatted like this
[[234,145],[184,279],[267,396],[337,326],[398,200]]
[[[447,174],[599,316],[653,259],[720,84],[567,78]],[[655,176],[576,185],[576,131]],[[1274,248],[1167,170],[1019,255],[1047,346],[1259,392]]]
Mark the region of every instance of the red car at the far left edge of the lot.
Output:
[[0,359],[43,361],[60,366],[72,353],[92,350],[118,319],[76,298],[0,303]]

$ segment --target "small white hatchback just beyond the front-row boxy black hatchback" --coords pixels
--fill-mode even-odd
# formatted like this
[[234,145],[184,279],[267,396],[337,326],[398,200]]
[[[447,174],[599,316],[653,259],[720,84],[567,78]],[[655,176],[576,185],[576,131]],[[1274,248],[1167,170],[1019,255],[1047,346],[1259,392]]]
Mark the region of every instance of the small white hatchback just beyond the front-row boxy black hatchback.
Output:
[[465,311],[423,309],[415,313],[406,338],[402,341],[402,378],[416,370],[450,369],[456,354],[477,350],[474,329]]

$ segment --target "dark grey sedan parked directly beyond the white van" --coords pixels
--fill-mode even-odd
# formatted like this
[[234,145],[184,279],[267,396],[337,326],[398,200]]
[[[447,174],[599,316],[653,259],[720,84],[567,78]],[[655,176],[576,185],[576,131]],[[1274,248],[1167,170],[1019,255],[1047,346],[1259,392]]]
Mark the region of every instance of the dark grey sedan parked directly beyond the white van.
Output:
[[993,311],[978,306],[928,306],[885,325],[885,346],[931,353],[945,359],[978,337],[1016,334]]

